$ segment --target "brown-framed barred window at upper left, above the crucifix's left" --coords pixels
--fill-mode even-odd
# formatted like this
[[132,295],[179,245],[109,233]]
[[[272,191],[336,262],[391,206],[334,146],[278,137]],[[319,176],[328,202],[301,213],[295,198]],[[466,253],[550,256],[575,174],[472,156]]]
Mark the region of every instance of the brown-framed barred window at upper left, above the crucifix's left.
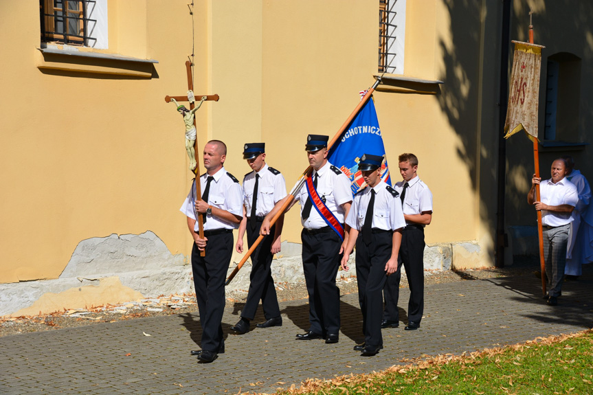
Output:
[[91,19],[95,0],[39,0],[41,10],[41,41],[94,47],[96,38],[89,32],[96,19]]

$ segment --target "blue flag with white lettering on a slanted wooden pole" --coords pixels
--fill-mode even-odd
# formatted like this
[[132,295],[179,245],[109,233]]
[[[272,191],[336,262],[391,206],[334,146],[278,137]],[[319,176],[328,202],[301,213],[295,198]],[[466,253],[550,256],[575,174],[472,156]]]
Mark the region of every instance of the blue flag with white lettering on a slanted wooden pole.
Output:
[[[366,187],[358,162],[363,154],[385,156],[385,146],[372,98],[331,147],[328,160],[350,178],[352,194]],[[381,179],[391,185],[387,157],[381,165]]]

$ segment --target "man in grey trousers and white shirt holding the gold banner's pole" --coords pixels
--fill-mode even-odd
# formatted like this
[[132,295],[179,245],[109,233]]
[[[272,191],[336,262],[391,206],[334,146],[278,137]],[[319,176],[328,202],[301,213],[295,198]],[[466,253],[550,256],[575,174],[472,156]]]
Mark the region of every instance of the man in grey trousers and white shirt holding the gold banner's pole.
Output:
[[[550,306],[556,306],[564,278],[568,232],[573,221],[571,214],[579,202],[579,194],[577,187],[566,179],[566,163],[563,159],[552,162],[551,174],[552,178],[544,181],[533,174],[527,201],[535,206],[535,210],[541,211],[544,260],[548,276],[546,300]],[[537,184],[540,201],[537,201],[535,196]]]

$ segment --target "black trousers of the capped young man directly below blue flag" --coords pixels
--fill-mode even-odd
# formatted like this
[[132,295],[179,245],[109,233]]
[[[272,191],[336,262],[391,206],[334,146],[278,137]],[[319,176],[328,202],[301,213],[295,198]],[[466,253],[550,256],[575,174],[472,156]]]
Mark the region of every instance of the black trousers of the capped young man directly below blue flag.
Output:
[[385,264],[391,257],[392,245],[393,232],[372,234],[369,245],[362,240],[362,234],[359,234],[356,239],[358,301],[362,311],[362,332],[366,346],[383,346],[381,336],[383,294],[381,291],[388,278]]

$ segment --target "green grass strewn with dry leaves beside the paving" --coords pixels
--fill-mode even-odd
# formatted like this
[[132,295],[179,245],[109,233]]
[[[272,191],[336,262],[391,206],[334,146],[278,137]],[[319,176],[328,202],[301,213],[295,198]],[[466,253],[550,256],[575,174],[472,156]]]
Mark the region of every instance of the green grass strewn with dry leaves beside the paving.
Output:
[[593,330],[309,381],[278,394],[593,394]]

